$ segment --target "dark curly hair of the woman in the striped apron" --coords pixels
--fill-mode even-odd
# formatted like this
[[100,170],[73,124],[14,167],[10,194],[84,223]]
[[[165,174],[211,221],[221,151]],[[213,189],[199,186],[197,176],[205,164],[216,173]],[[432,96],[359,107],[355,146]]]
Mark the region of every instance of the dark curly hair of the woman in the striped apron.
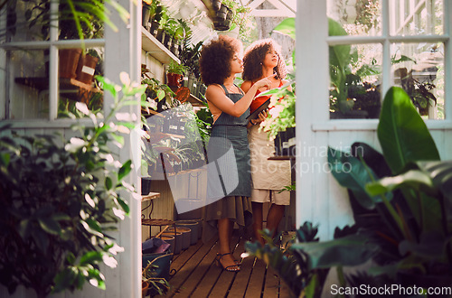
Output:
[[224,79],[231,76],[232,57],[241,51],[241,42],[225,35],[203,45],[199,66],[204,84],[222,84]]

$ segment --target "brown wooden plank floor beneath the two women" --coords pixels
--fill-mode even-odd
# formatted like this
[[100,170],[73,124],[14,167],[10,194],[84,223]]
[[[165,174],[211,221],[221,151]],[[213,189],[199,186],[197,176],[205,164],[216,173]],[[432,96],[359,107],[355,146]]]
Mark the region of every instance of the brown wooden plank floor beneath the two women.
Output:
[[[245,251],[245,239],[235,236],[233,244],[234,256],[239,258]],[[215,265],[217,250],[217,239],[207,244],[200,240],[175,255],[171,289],[160,297],[290,297],[286,285],[262,260],[246,257],[240,272],[226,272]]]

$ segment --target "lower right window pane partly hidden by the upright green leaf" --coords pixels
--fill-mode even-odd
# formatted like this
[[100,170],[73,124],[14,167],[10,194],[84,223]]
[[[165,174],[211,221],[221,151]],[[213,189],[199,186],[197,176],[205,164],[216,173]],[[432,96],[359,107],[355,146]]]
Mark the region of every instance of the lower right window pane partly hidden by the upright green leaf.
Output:
[[404,88],[421,116],[444,119],[444,44],[391,45],[394,85]]

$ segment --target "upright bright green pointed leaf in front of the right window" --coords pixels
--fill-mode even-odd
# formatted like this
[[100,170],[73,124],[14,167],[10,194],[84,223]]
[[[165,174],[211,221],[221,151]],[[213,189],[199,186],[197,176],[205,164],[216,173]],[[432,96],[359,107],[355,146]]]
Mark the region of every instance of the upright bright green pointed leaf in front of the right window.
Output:
[[424,120],[402,88],[391,87],[386,93],[377,134],[393,173],[399,173],[409,162],[439,160]]

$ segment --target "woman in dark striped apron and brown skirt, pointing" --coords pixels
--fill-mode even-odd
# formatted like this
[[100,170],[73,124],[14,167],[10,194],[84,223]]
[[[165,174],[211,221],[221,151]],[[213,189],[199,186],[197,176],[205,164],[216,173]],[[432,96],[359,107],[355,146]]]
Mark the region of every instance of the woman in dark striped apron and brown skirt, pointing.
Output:
[[202,81],[208,86],[205,98],[213,116],[202,240],[208,241],[218,228],[217,265],[233,272],[240,270],[231,253],[233,225],[249,225],[252,217],[247,116],[254,94],[271,84],[268,78],[260,79],[246,94],[234,84],[235,75],[243,71],[241,49],[240,41],[220,35],[202,46],[200,58]]

